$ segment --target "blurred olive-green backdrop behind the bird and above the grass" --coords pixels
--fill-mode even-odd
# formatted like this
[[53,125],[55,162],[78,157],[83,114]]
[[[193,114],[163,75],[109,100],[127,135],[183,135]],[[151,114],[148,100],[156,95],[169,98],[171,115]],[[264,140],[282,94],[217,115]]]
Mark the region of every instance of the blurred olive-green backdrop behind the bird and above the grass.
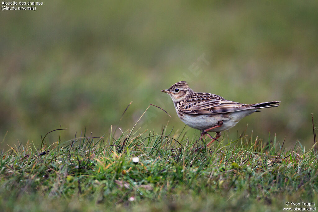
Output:
[[[197,92],[281,106],[225,133],[268,130],[289,146],[313,144],[318,122],[318,1],[46,1],[36,11],[0,11],[0,142],[62,140],[85,127],[182,130],[167,94],[186,80]],[[201,58],[201,59],[200,59]],[[204,58],[204,59],[202,59]],[[190,137],[198,131],[185,128]],[[116,136],[120,135],[117,130]],[[50,135],[52,142],[58,133]],[[286,145],[286,144],[285,144]]]

